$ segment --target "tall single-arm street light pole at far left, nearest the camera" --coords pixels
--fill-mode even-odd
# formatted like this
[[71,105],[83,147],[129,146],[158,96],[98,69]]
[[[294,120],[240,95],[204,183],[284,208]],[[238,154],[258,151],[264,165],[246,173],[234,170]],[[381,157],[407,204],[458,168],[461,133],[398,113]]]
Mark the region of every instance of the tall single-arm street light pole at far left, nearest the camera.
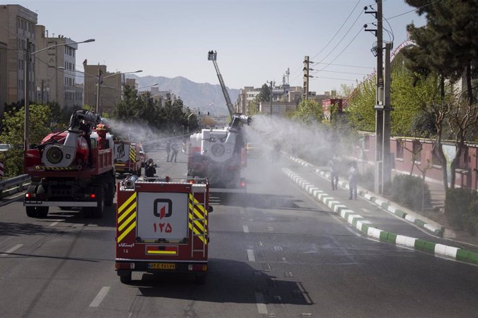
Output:
[[26,39],[25,43],[25,60],[24,60],[24,68],[25,68],[25,75],[24,75],[24,109],[25,109],[25,119],[24,119],[24,151],[27,151],[30,148],[30,77],[28,76],[30,73],[30,58],[44,50],[48,50],[49,48],[55,48],[56,46],[67,46],[71,44],[80,44],[80,43],[89,43],[93,42],[95,39],[87,39],[85,41],[80,42],[71,42],[71,43],[62,43],[62,44],[55,44],[52,46],[47,46],[46,48],[42,48],[41,50],[35,50],[35,52],[30,53],[30,39]]

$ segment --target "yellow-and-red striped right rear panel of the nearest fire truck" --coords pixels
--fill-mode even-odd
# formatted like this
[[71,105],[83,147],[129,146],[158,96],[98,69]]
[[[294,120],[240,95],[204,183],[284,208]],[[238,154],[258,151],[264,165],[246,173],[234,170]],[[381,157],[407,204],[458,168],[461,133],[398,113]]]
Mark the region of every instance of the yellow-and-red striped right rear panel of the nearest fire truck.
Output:
[[[198,191],[199,190],[199,191]],[[202,252],[202,256],[206,256],[206,244],[207,244],[207,236],[208,233],[206,232],[207,229],[207,217],[206,214],[208,211],[206,210],[206,185],[200,185],[200,184],[193,184],[191,187],[191,194],[193,195],[193,209],[192,209],[192,214],[193,218],[191,219],[193,228],[191,229],[191,234],[193,235],[193,239],[191,240],[191,257],[193,257],[194,252]],[[197,200],[196,194],[201,194],[200,200]],[[201,217],[198,217],[196,215],[196,207],[197,210],[200,211],[198,212]],[[202,209],[201,209],[202,207]],[[200,226],[202,226],[203,231],[202,233],[195,233],[194,231],[194,225],[195,223],[198,223]],[[202,241],[202,248],[200,249],[195,249],[194,248],[194,238],[199,237],[200,240]]]

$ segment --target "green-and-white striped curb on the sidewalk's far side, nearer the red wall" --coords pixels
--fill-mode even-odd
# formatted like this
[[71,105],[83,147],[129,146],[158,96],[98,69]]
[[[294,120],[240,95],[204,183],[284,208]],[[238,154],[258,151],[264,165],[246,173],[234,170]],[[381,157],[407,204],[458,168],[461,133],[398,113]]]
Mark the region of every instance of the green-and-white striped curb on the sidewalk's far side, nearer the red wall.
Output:
[[[309,162],[306,162],[306,161],[301,160],[299,158],[290,157],[290,159],[294,162],[299,163],[300,165],[303,165],[304,167],[311,167],[312,169],[315,170],[315,172],[317,174],[319,174],[320,176],[330,180],[330,171],[326,171],[326,170],[314,167]],[[340,180],[339,179],[339,185],[341,187],[349,189],[348,182],[345,181],[345,180]],[[444,227],[435,227],[433,225],[425,223],[420,218],[416,218],[414,216],[411,216],[410,214],[403,211],[402,209],[400,209],[398,207],[394,207],[391,203],[389,203],[389,201],[384,200],[383,198],[378,198],[377,196],[375,196],[373,194],[369,194],[366,190],[361,189],[360,187],[357,188],[357,193],[360,196],[362,196],[363,198],[366,198],[366,200],[369,200],[369,201],[375,203],[376,205],[382,207],[383,209],[386,209],[388,212],[391,212],[391,213],[395,214],[396,216],[398,216],[400,218],[404,218],[405,220],[407,220],[411,223],[414,223],[418,227],[421,227],[424,230],[427,230],[427,232],[430,232],[430,233],[432,233],[436,236],[443,237],[443,232],[445,231]]]

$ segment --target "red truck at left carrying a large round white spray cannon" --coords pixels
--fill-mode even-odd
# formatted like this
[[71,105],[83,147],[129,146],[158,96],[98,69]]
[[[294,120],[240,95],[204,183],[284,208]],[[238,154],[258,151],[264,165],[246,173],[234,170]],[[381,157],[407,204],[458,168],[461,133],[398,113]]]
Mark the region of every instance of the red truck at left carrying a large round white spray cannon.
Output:
[[[71,115],[69,127],[47,135],[39,146],[24,154],[24,171],[31,177],[24,197],[27,216],[45,217],[51,206],[82,207],[85,216],[101,217],[105,205],[113,204],[115,176],[113,138],[107,134],[105,148],[98,134],[82,136],[80,124],[96,125],[100,118],[84,109]],[[88,164],[89,151],[93,166]]]

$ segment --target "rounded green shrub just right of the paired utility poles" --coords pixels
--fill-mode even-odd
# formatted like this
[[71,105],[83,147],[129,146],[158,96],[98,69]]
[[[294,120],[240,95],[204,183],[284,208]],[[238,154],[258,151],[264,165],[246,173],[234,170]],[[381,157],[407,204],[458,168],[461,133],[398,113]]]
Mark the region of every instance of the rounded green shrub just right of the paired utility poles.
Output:
[[422,209],[423,205],[429,206],[432,201],[430,189],[420,177],[400,175],[393,178],[391,184],[392,200],[400,205],[409,207],[410,209]]

